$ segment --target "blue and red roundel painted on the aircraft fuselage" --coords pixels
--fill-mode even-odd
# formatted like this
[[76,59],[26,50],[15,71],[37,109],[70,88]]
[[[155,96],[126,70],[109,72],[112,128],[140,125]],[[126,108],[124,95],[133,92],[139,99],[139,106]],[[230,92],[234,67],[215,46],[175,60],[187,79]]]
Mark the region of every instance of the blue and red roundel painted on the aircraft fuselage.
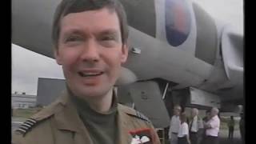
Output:
[[190,10],[185,0],[166,0],[166,39],[179,46],[190,34]]

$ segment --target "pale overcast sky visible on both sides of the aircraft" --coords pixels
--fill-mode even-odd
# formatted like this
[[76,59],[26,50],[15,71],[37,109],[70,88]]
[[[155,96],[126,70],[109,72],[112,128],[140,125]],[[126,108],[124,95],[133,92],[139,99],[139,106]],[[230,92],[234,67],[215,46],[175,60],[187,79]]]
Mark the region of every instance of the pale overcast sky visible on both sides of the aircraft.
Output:
[[[243,33],[242,0],[193,0],[213,18]],[[12,44],[12,93],[37,94],[38,78],[64,78],[54,59]]]

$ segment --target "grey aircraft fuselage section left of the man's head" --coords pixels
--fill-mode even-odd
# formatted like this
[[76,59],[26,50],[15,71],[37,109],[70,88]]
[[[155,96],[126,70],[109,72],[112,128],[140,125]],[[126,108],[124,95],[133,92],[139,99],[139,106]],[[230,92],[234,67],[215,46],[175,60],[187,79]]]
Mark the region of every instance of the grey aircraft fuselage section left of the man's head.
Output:
[[51,25],[60,0],[13,0],[12,43],[54,58]]

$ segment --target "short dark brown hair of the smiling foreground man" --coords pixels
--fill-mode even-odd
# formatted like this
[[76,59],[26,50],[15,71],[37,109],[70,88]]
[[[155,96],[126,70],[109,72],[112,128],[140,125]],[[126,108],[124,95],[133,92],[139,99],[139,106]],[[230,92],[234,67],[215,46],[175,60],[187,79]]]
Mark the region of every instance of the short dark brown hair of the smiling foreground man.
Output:
[[118,15],[122,44],[127,42],[128,38],[128,24],[126,19],[126,12],[118,0],[62,0],[58,5],[52,26],[52,40],[54,48],[58,49],[58,38],[60,33],[60,23],[62,18],[70,13],[79,13],[87,10],[99,10],[107,8],[111,12],[116,12]]

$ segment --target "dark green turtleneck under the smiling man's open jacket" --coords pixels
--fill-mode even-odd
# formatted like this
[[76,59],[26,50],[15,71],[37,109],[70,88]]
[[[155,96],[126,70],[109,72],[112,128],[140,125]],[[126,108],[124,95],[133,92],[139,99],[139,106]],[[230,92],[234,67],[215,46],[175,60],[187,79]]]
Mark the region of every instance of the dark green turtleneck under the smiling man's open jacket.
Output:
[[70,95],[72,102],[78,110],[78,115],[82,122],[89,130],[90,138],[94,144],[117,143],[118,126],[117,123],[117,106],[114,96],[110,110],[104,114],[92,110],[87,102],[81,98]]

